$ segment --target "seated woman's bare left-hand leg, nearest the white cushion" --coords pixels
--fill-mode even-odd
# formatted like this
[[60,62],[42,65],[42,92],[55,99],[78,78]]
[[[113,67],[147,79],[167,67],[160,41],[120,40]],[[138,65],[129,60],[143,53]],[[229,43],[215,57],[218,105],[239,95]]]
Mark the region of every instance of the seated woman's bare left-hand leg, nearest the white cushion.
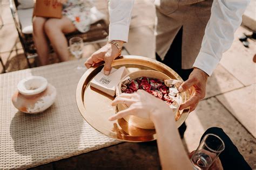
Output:
[[50,48],[48,45],[49,42],[44,32],[44,24],[46,20],[47,19],[43,17],[33,17],[33,41],[35,42],[41,65],[47,65],[49,62],[48,55]]

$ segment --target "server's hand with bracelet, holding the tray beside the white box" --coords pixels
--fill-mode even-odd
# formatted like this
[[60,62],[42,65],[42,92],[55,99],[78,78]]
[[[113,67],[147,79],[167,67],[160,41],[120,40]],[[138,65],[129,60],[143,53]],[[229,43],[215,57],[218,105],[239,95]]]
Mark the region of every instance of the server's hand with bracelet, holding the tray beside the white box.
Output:
[[[122,48],[123,41],[117,41],[119,46]],[[104,66],[104,73],[105,75],[109,75],[111,71],[111,63],[114,59],[116,59],[119,55],[119,51],[116,45],[107,43],[105,46],[100,48],[98,51],[93,53],[89,59],[87,59],[84,63],[84,65],[87,68],[90,68],[91,66],[95,65],[95,63],[98,63],[100,61],[105,61]]]

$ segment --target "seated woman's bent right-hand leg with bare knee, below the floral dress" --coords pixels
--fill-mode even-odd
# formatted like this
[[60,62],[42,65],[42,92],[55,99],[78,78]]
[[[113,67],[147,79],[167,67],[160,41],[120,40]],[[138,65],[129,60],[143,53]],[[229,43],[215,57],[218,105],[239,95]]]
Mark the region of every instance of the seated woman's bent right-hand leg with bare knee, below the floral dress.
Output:
[[61,19],[51,18],[46,21],[44,30],[59,60],[68,61],[69,51],[65,33],[76,31],[76,27],[66,17],[62,17]]

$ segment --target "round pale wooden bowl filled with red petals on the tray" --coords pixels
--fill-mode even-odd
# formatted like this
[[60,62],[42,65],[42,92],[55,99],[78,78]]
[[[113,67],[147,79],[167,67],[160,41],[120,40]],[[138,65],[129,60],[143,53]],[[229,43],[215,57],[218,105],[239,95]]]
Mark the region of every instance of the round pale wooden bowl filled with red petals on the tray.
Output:
[[[126,77],[129,76],[131,79],[137,79],[138,77],[150,77],[150,78],[154,78],[154,79],[159,79],[159,80],[167,80],[167,79],[171,79],[169,76],[165,75],[164,73],[155,71],[155,70],[139,70],[137,72],[133,72],[131,74],[126,75],[118,84],[117,87],[117,91],[116,91],[116,95],[120,95],[122,93],[121,91],[121,86],[122,86],[122,82],[126,79]],[[118,104],[117,105],[117,109],[119,111],[127,109],[127,105],[126,104]],[[125,121],[128,122],[129,124],[136,126],[138,128],[142,128],[142,129],[155,129],[154,128],[154,124],[150,119],[146,119],[146,118],[141,118],[138,116],[126,116],[124,117]]]

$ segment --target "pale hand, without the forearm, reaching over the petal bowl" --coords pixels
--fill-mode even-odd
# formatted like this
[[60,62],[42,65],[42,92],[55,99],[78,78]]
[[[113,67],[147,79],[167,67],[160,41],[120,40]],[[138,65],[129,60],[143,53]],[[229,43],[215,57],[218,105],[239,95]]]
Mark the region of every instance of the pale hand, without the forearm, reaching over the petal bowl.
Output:
[[164,118],[166,115],[173,116],[178,109],[172,110],[169,105],[147,93],[144,90],[138,90],[136,93],[122,93],[117,96],[112,105],[126,104],[129,108],[119,111],[116,115],[109,118],[109,121],[128,116],[136,115],[142,118],[149,118],[154,123],[158,118]]

